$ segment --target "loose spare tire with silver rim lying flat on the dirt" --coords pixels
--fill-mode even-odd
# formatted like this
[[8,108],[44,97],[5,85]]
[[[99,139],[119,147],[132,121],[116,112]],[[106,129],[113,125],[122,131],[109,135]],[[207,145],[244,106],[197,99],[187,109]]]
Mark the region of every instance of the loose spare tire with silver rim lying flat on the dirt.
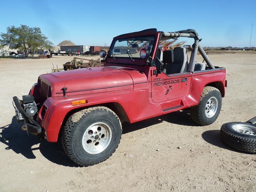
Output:
[[225,123],[220,129],[220,139],[239,151],[256,154],[256,125],[243,122]]

